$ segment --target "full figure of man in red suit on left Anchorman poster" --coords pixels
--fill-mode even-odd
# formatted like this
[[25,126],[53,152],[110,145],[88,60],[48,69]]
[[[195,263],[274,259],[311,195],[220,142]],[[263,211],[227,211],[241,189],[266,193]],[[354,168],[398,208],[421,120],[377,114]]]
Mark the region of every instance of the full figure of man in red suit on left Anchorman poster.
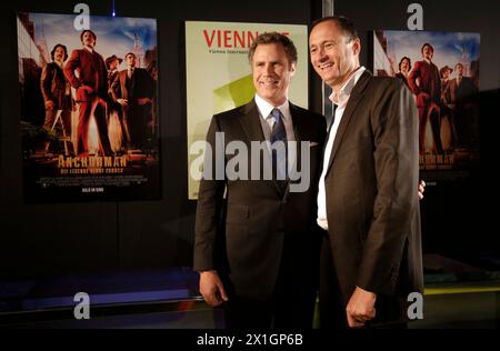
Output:
[[83,49],[73,50],[64,68],[64,76],[77,89],[79,103],[77,153],[89,154],[89,123],[93,114],[99,134],[99,151],[111,156],[111,144],[106,122],[106,99],[108,96],[108,71],[102,56],[94,50],[97,37],[89,29],[80,34]]

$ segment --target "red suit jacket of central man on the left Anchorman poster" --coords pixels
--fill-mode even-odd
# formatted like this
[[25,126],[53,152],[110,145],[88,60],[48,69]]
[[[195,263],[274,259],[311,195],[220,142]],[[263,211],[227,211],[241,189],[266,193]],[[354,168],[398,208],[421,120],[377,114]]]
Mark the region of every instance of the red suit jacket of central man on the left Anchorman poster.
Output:
[[[79,77],[74,71],[79,72]],[[93,97],[98,96],[106,100],[108,94],[108,70],[106,68],[102,56],[96,50],[90,52],[87,49],[73,50],[68,63],[64,67],[64,76],[71,83],[71,87],[77,89],[77,101],[91,101]],[[89,96],[81,86],[92,88],[93,92]]]

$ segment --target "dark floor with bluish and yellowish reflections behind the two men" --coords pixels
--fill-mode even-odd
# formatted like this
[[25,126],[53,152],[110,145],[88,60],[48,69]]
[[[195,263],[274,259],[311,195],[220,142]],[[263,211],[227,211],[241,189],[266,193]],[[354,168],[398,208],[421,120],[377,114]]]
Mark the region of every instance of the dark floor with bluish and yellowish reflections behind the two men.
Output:
[[[428,255],[423,319],[410,329],[500,327],[500,275]],[[76,292],[90,297],[90,319],[77,320]],[[223,315],[198,293],[188,268],[0,281],[0,329],[221,329]],[[319,328],[319,323],[316,322]]]

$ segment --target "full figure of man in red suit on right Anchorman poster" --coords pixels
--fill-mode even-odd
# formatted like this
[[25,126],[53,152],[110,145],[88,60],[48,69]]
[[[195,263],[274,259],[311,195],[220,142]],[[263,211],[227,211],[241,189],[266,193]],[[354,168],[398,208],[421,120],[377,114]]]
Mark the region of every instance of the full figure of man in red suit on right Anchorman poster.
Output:
[[438,67],[432,62],[434,48],[428,42],[421,49],[423,60],[414,62],[408,83],[417,96],[419,109],[419,144],[420,153],[426,152],[426,128],[431,123],[434,151],[442,153],[440,137],[440,109],[441,79]]

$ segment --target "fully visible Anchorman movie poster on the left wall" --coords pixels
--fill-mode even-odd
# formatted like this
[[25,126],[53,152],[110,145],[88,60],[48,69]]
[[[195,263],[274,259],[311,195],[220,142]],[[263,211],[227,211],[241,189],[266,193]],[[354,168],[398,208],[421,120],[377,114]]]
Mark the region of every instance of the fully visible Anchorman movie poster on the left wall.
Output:
[[18,13],[27,202],[160,198],[157,21]]

